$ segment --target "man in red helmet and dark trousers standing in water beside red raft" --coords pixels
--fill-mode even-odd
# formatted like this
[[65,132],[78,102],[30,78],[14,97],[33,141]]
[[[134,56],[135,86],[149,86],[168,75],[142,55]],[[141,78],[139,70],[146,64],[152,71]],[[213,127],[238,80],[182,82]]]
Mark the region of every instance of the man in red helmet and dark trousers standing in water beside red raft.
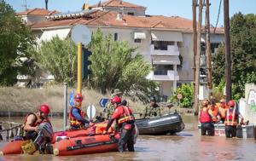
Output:
[[126,145],[130,152],[134,152],[135,118],[131,112],[131,108],[129,106],[122,105],[121,99],[118,96],[113,97],[112,104],[115,110],[112,117],[108,121],[104,134],[108,132],[111,124],[113,124],[113,121],[116,120],[120,134],[118,147],[119,152],[124,152]]

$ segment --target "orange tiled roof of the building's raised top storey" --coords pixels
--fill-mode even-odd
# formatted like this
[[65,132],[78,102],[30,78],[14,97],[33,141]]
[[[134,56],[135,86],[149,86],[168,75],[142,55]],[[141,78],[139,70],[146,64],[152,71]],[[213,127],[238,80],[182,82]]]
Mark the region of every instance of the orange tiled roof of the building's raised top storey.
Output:
[[133,3],[127,3],[122,0],[108,0],[106,2],[99,2],[95,5],[92,5],[90,7],[124,7],[124,8],[134,8],[134,9],[146,9],[144,6],[139,6],[137,4]]

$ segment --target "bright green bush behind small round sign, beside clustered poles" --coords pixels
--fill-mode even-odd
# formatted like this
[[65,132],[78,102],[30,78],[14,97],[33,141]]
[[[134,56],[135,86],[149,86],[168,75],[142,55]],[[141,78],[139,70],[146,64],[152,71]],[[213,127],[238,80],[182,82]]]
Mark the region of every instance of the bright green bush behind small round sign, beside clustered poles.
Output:
[[193,83],[183,83],[182,86],[177,88],[176,91],[174,91],[172,97],[170,98],[171,102],[177,103],[177,94],[183,95],[183,98],[180,100],[180,106],[183,107],[192,107],[192,101],[193,101]]

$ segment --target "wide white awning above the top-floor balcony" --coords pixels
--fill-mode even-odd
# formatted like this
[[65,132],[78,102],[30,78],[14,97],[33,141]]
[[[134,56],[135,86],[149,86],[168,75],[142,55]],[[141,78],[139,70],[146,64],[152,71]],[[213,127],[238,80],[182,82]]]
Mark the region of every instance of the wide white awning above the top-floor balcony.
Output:
[[166,41],[166,42],[182,42],[183,36],[181,32],[151,32],[152,41]]

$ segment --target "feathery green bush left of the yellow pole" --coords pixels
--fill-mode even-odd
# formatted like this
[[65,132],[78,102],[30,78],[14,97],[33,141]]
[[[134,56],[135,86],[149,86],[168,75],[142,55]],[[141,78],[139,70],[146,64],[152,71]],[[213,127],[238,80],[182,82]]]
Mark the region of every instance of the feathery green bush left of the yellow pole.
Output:
[[70,38],[61,40],[53,37],[50,41],[43,41],[41,45],[38,51],[31,50],[36,65],[53,74],[56,82],[73,84],[77,74],[76,45],[73,41]]

